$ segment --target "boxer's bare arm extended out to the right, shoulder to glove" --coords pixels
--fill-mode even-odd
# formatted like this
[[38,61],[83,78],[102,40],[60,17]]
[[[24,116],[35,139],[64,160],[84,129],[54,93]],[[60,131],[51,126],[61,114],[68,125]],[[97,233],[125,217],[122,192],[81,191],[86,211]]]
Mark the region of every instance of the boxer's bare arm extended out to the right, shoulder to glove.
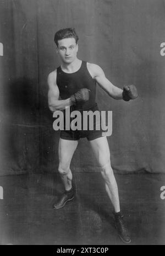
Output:
[[108,93],[113,99],[123,99],[123,90],[114,86],[105,76],[102,68],[95,64],[89,65],[90,73],[93,78],[96,80],[98,85]]

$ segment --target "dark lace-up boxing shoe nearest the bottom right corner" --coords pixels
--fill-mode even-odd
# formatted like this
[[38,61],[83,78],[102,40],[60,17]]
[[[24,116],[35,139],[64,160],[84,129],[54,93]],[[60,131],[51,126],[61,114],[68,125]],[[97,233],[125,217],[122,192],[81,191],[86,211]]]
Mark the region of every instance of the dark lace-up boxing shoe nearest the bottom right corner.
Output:
[[124,223],[123,217],[124,216],[122,214],[120,215],[114,214],[115,225],[116,225],[120,239],[122,239],[124,243],[130,243],[131,242],[130,234]]

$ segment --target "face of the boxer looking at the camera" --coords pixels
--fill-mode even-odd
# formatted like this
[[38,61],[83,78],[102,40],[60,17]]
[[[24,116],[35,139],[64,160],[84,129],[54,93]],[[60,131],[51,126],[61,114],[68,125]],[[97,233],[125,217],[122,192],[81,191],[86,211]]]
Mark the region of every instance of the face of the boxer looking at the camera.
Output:
[[78,45],[74,38],[58,40],[57,52],[62,62],[71,63],[75,60],[78,52]]

